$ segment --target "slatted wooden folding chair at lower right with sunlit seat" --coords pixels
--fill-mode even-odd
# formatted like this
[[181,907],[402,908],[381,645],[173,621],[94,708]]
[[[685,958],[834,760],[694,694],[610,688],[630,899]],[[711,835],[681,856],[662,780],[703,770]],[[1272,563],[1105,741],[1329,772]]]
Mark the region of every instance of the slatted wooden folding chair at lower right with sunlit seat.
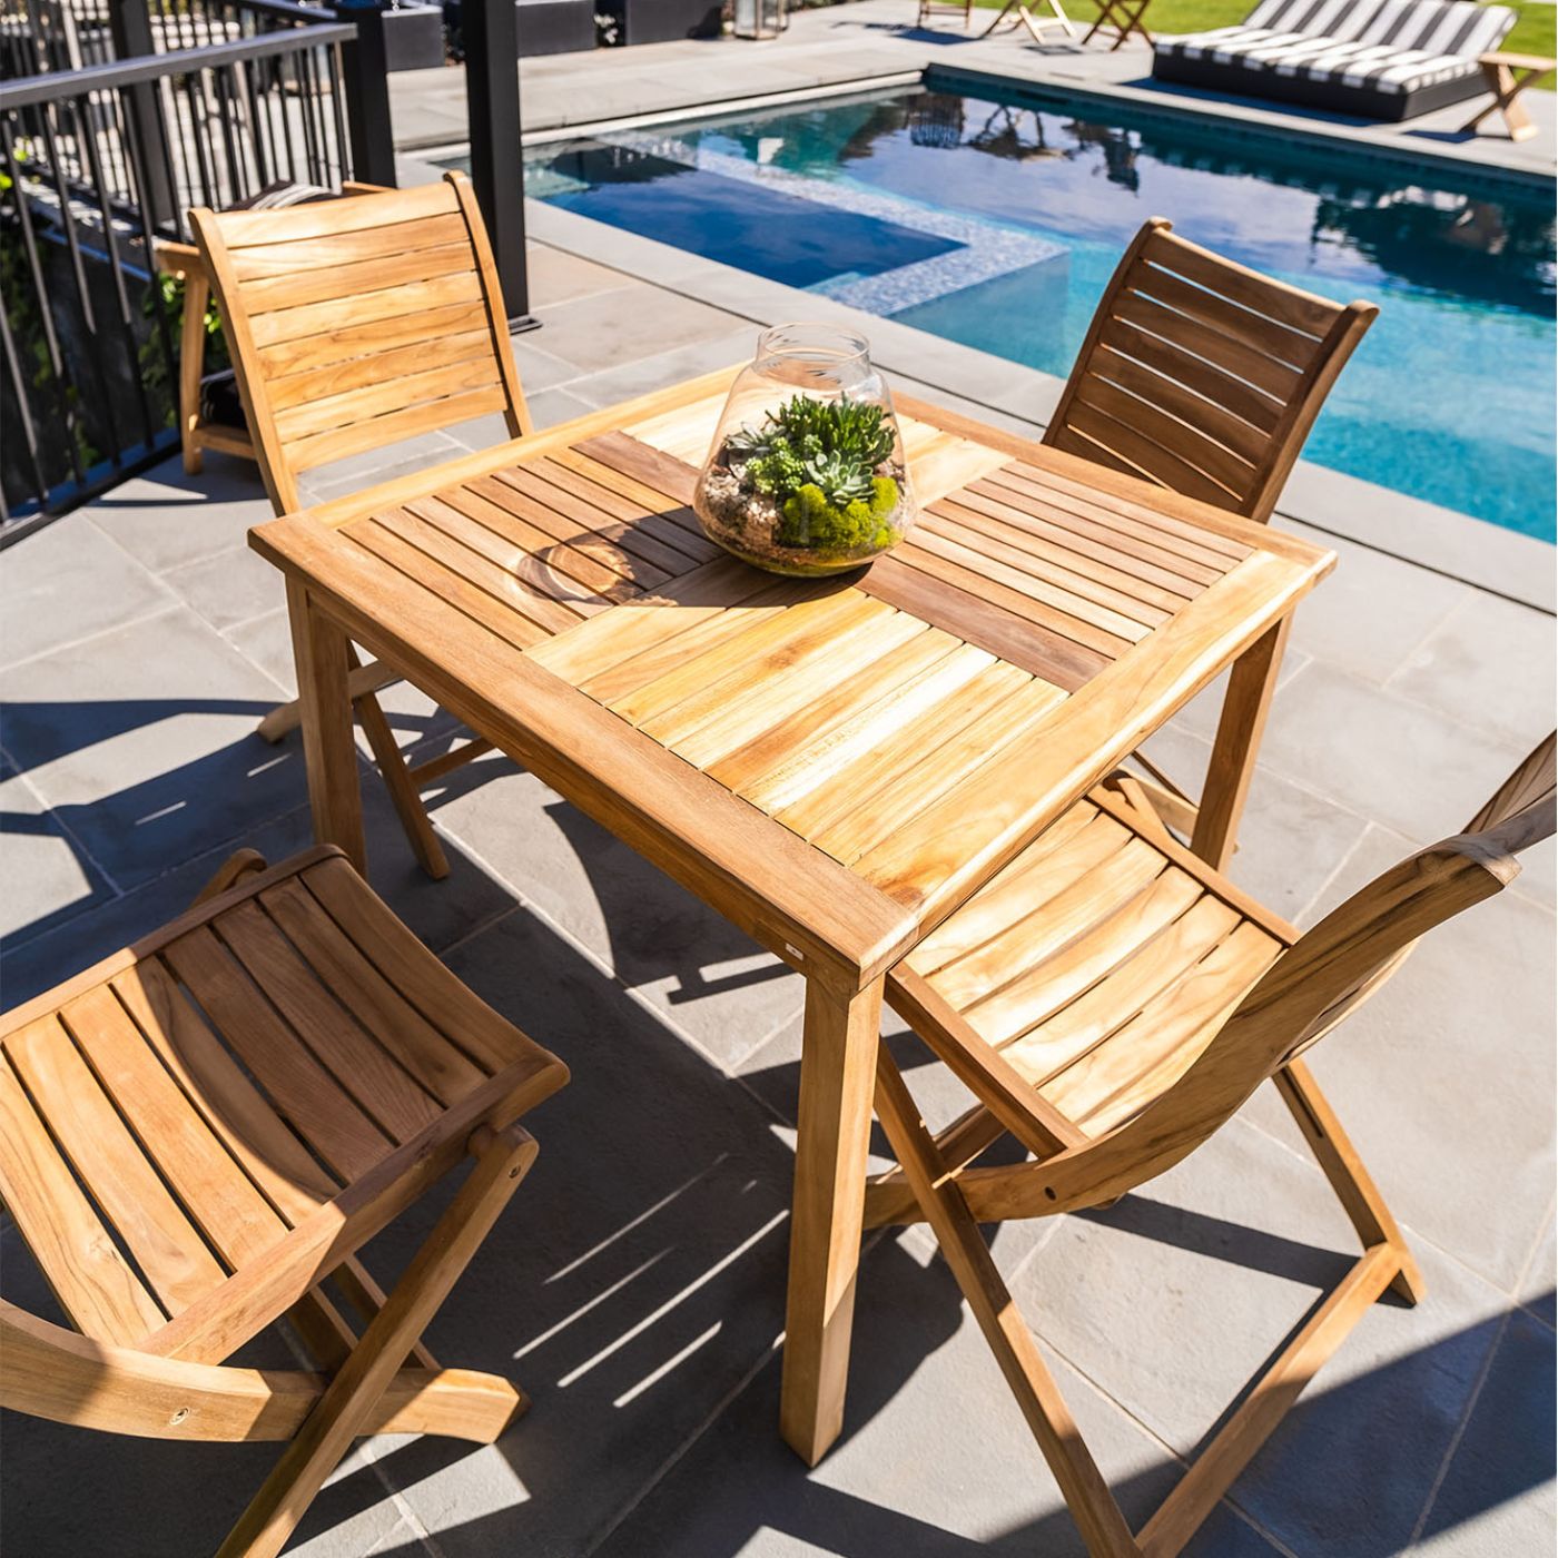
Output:
[[[899,1167],[866,1226],[929,1221],[1095,1558],[1172,1558],[1387,1287],[1422,1278],[1299,1055],[1435,925],[1491,897],[1553,832],[1553,738],[1468,830],[1299,935],[1181,848],[1116,774],[888,977],[887,999],[978,1105],[932,1137],[883,1047],[877,1116]],[[1172,1168],[1271,1078],[1363,1256],[1151,1519],[1133,1533],[978,1232],[1106,1206]],[[1005,1133],[1033,1159],[974,1167]]]

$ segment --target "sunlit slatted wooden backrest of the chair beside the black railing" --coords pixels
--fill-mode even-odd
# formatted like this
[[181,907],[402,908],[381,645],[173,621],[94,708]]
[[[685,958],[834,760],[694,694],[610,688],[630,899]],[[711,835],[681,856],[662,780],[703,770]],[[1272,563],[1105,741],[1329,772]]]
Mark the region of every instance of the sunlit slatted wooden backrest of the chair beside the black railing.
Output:
[[471,182],[190,223],[276,513],[298,477],[502,411],[530,432]]

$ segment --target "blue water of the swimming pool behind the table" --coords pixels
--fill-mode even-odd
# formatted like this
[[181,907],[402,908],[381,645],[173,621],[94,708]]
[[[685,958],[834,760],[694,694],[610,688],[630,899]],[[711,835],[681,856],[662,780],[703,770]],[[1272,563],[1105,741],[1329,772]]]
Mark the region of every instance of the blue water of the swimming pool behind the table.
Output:
[[913,90],[539,148],[530,195],[1064,375],[1126,241],[1380,316],[1306,458],[1549,541],[1552,187],[1063,97]]

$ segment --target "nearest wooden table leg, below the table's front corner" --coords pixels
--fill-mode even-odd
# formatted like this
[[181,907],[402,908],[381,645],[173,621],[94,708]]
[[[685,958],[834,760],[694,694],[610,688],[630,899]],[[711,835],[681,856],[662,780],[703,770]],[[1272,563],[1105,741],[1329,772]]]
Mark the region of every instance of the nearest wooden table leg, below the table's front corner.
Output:
[[779,1429],[809,1466],[844,1424],[880,1022],[882,980],[852,999],[807,983]]

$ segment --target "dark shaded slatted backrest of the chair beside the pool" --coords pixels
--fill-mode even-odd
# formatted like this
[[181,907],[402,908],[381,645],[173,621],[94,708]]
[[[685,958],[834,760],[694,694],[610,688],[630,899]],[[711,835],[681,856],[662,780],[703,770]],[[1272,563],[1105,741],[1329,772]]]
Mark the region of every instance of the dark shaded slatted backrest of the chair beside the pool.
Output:
[[1044,442],[1267,520],[1376,313],[1274,282],[1153,217],[1116,268]]

